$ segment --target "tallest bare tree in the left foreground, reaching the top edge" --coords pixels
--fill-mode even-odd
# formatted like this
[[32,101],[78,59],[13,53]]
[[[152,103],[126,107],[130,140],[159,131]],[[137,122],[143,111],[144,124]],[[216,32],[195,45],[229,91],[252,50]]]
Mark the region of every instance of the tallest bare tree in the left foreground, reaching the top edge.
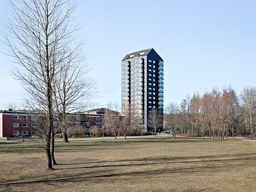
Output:
[[45,111],[45,152],[52,169],[54,79],[77,57],[80,44],[73,44],[76,28],[70,28],[75,7],[68,0],[10,0],[8,8],[4,43],[15,64],[13,74],[28,93],[29,110]]

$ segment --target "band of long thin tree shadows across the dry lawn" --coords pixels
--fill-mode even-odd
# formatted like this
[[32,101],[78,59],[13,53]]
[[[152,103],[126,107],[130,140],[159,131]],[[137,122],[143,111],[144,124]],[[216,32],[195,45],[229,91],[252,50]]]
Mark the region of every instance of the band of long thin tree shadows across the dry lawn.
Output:
[[[198,157],[152,157],[141,159],[124,159],[120,161],[96,161],[93,163],[70,163],[58,164],[52,170],[54,175],[52,179],[36,179],[33,180],[11,180],[0,184],[2,187],[26,185],[26,184],[53,184],[56,182],[84,182],[85,179],[102,179],[111,178],[111,180],[125,179],[125,177],[155,177],[163,174],[205,174],[218,173],[225,170],[228,166],[244,166],[253,163],[255,160],[253,154],[236,154],[236,156],[220,155],[220,156],[198,156]],[[244,161],[246,160],[246,161]],[[232,162],[232,163],[230,163]],[[233,163],[236,163],[234,165]],[[76,166],[79,165],[79,166]],[[82,166],[81,166],[82,165]],[[84,165],[84,166],[83,166]],[[64,167],[61,166],[70,166]],[[134,167],[134,168],[132,168]],[[76,170],[81,170],[76,172]],[[72,170],[72,172],[67,172]],[[61,172],[63,171],[63,172]],[[121,178],[122,177],[122,178]]]

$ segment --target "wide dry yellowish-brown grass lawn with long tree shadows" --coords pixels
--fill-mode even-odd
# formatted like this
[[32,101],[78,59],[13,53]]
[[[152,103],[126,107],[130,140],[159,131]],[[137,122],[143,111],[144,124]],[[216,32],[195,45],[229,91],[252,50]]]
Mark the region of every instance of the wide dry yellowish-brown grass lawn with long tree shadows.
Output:
[[256,142],[148,137],[0,145],[0,191],[255,191]]

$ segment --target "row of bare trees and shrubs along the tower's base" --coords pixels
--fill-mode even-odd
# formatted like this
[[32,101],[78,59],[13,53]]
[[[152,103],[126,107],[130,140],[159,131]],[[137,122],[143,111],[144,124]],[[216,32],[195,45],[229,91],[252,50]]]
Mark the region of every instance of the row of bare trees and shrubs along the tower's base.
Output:
[[147,134],[147,130],[160,131],[163,127],[163,115],[157,109],[152,109],[148,112],[147,127],[144,127],[141,116],[136,115],[136,111],[131,109],[131,106],[123,106],[122,115],[116,115],[118,111],[118,104],[109,102],[108,109],[106,109],[103,119],[102,127],[90,127],[92,136],[102,136],[104,132],[108,136],[124,136]]

